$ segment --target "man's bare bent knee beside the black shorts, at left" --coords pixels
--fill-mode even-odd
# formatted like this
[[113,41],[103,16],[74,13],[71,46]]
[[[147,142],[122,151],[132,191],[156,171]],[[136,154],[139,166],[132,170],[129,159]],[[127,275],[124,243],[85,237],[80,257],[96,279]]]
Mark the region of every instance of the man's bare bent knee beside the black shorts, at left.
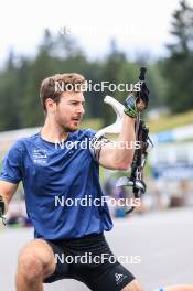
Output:
[[33,281],[35,278],[43,279],[51,274],[54,268],[54,255],[43,240],[29,244],[23,248],[18,259],[18,273],[20,272],[28,281]]

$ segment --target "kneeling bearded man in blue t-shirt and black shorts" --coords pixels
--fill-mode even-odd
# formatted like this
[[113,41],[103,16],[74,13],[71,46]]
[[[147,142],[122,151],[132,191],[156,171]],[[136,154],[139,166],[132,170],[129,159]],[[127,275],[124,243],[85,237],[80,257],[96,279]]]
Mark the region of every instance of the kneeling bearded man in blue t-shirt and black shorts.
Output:
[[[73,90],[58,91],[56,83],[71,85]],[[92,202],[103,201],[99,164],[116,170],[126,170],[131,164],[133,149],[118,144],[135,141],[135,117],[146,105],[141,101],[136,105],[129,98],[117,147],[110,147],[106,138],[95,147],[95,142],[89,142],[95,132],[78,130],[85,100],[76,85],[84,83],[85,78],[78,74],[44,79],[40,95],[46,118],[41,132],[18,140],[3,160],[0,214],[6,213],[22,181],[26,212],[34,226],[34,240],[19,255],[17,291],[42,291],[43,283],[65,278],[79,280],[94,291],[143,290],[124,266],[109,260],[112,252],[104,231],[110,230],[112,223],[107,204],[89,203],[85,207],[66,202],[87,197]],[[82,142],[87,147],[81,147]],[[85,255],[89,259],[83,263]]]

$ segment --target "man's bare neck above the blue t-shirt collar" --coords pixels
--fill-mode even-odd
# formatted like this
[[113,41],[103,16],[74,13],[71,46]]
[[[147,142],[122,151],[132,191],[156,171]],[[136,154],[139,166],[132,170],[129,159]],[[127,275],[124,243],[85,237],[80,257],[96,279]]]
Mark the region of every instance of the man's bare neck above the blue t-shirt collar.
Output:
[[46,119],[40,134],[42,139],[55,143],[65,141],[69,132],[65,132],[62,127],[55,123],[53,125]]

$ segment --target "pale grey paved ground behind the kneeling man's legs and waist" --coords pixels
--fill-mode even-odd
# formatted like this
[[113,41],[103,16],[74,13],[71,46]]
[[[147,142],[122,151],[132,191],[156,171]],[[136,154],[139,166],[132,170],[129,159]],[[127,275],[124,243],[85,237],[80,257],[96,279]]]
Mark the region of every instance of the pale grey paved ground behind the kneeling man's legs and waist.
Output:
[[[0,290],[14,291],[13,274],[19,249],[32,238],[32,230],[0,231]],[[193,211],[176,209],[116,219],[106,234],[117,256],[140,256],[140,263],[127,263],[146,288],[173,283],[193,284]],[[82,283],[63,280],[45,291],[86,291]],[[110,290],[112,291],[112,290]]]

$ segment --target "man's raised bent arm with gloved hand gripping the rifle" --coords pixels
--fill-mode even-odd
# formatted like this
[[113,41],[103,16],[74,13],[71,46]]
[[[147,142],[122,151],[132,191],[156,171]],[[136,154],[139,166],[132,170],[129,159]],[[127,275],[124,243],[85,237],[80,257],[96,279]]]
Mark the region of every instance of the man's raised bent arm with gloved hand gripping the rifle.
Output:
[[[117,142],[109,142],[106,138],[100,141],[98,149],[97,161],[104,168],[114,170],[127,170],[132,163],[135,150],[139,149],[140,144],[136,142],[136,120],[139,120],[140,112],[143,111],[149,101],[149,89],[144,82],[146,68],[141,67],[139,82],[140,90],[130,94],[125,101],[125,117],[121,131]],[[97,153],[97,150],[96,150]]]

